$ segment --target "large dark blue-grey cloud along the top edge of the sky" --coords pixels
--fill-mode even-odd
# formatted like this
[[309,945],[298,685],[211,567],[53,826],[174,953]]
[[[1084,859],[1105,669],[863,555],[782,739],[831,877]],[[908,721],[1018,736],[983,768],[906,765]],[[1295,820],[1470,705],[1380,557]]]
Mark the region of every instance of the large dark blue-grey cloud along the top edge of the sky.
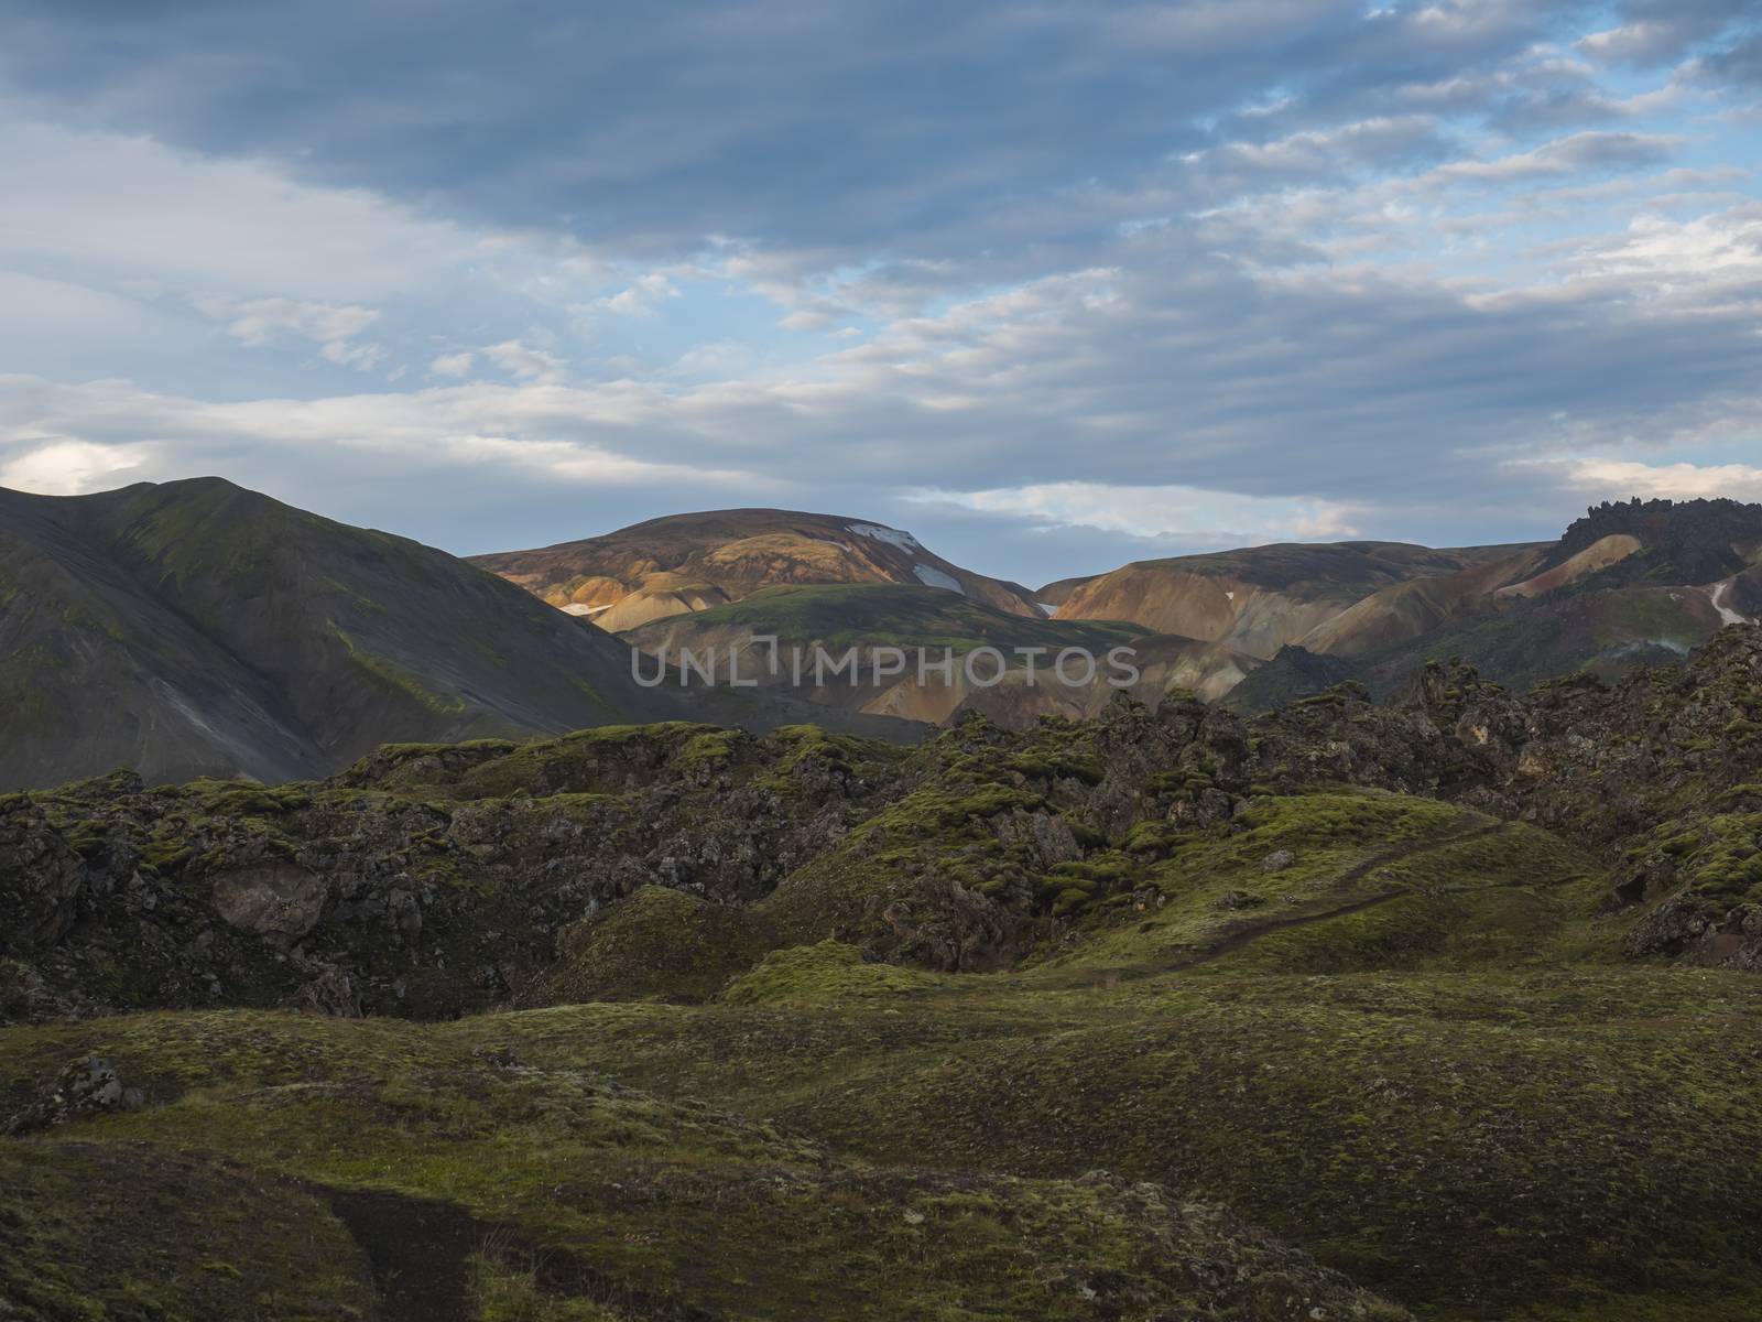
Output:
[[507,25],[439,0],[419,33],[344,0],[227,23],[204,4],[152,21],[25,9],[0,79],[69,120],[273,157],[492,227],[566,217],[624,252],[689,254],[719,234],[862,261],[971,256],[1001,204],[1142,182],[1269,92],[1286,120],[1332,118],[1496,69],[1573,5],[685,0],[603,23],[541,0]]

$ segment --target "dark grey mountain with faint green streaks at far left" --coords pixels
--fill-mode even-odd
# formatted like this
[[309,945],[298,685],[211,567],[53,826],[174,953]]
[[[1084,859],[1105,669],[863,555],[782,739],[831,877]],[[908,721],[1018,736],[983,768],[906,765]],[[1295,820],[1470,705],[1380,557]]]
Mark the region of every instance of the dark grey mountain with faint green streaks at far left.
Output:
[[0,786],[335,770],[664,716],[629,652],[444,552],[217,478],[0,492]]

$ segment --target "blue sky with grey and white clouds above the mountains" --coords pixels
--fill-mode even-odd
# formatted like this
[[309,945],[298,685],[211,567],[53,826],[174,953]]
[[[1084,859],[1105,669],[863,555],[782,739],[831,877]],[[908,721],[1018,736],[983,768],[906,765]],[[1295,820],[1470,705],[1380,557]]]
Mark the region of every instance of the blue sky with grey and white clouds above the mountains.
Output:
[[1036,585],[1762,501],[1762,0],[0,0],[0,486]]

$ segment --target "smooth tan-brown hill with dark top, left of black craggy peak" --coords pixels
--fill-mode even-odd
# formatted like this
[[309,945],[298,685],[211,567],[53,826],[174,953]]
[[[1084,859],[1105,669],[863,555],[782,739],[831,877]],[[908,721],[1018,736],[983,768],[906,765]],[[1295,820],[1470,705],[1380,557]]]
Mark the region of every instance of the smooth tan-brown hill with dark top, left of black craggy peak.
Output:
[[1380,589],[1457,573],[1510,550],[1344,541],[1138,561],[1075,583],[1055,617],[1133,620],[1270,659]]

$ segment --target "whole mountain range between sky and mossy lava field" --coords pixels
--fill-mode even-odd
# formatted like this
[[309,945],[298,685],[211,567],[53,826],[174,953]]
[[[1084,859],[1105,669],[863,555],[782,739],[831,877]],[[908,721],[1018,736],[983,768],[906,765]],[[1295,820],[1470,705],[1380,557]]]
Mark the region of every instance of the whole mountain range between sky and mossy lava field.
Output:
[[[701,717],[913,739],[966,710],[1098,714],[1105,675],[1034,682],[1017,649],[1129,647],[1129,693],[1258,710],[1431,657],[1526,687],[1681,657],[1762,612],[1762,506],[1625,502],[1554,543],[1350,541],[1142,561],[1033,592],[860,518],[735,509],[460,561],[203,478],[0,492],[0,788],[132,767],[285,781],[391,742]],[[1004,654],[886,682],[685,686],[682,650]],[[654,657],[641,663],[633,650]],[[666,668],[666,659],[673,668]],[[638,682],[636,663],[663,682]],[[657,668],[659,666],[659,668]]]

